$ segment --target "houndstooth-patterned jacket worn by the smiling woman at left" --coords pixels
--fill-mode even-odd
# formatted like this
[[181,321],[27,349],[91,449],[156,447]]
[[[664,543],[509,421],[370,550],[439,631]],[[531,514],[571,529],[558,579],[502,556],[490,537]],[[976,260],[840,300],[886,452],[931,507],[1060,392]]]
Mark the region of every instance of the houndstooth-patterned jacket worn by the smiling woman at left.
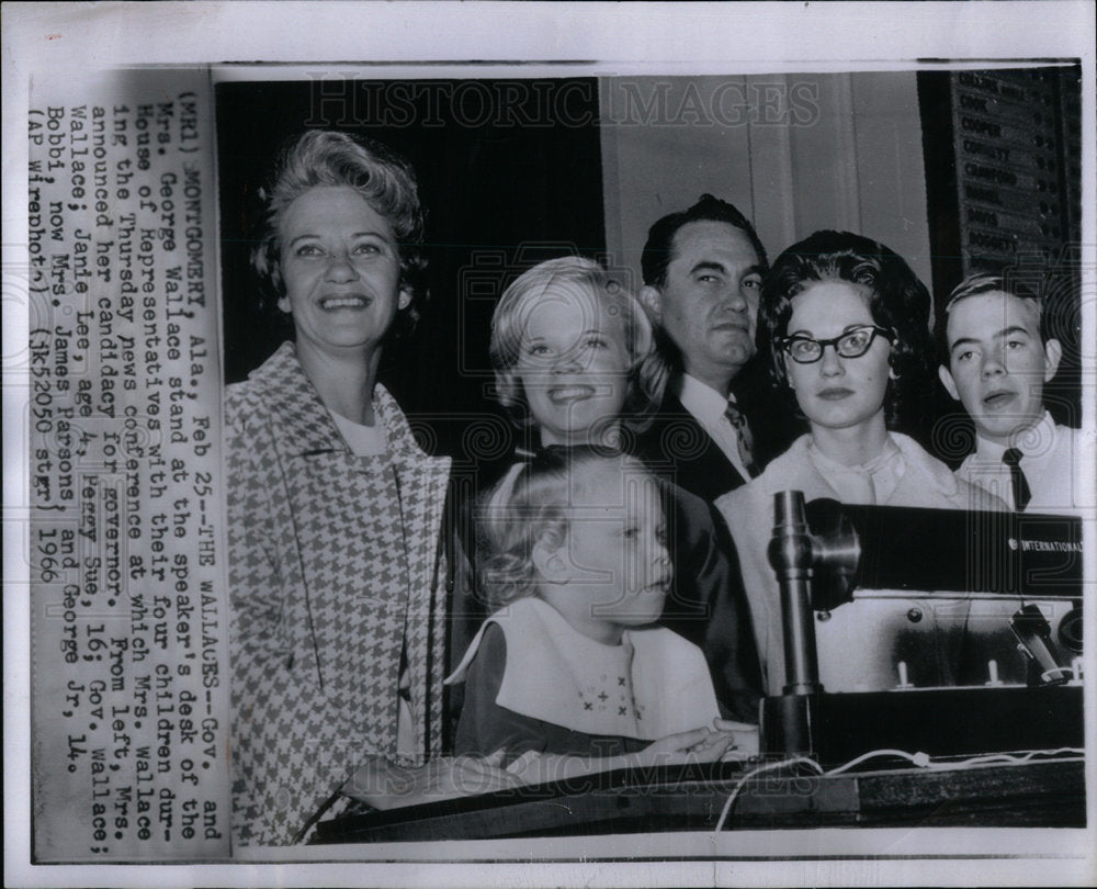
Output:
[[396,758],[406,654],[422,757],[441,750],[450,461],[392,396],[385,458],[354,457],[293,344],[226,396],[233,828],[284,844],[366,756]]

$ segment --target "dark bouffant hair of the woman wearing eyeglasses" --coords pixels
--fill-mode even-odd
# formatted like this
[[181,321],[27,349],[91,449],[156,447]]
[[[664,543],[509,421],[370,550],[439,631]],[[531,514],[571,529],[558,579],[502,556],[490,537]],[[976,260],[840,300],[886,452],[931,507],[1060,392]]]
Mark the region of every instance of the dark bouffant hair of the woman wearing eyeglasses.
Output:
[[[892,330],[892,376],[884,396],[889,429],[909,431],[925,416],[932,393],[931,297],[905,260],[871,238],[849,232],[816,232],[793,244],[773,262],[758,306],[758,352],[768,356],[778,386],[784,385],[784,358],[774,341],[789,331],[792,299],[813,281],[848,281],[869,290],[869,311]],[[794,396],[792,396],[794,397]]]

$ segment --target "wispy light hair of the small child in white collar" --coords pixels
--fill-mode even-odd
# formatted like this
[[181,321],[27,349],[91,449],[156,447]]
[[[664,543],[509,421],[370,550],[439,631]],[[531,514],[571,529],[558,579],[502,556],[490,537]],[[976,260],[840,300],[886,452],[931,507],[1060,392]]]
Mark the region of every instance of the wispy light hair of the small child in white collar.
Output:
[[596,469],[612,472],[622,485],[627,476],[648,476],[638,460],[607,448],[550,448],[529,463],[516,463],[489,492],[477,539],[480,595],[490,610],[536,595],[533,545],[563,545],[572,506]]

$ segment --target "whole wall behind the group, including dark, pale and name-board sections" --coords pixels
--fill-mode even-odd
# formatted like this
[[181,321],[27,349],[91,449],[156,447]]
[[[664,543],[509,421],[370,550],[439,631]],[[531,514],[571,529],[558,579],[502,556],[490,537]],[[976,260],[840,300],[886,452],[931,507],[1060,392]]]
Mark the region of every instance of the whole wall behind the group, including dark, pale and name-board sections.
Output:
[[[995,94],[992,81],[1004,91]],[[581,254],[604,259],[623,283],[638,286],[647,227],[702,191],[754,218],[770,259],[818,228],[882,240],[930,286],[938,328],[942,302],[963,273],[1042,256],[1041,268],[1065,272],[1053,326],[1067,352],[1048,401],[1056,419],[1076,426],[1081,301],[1070,244],[1081,218],[1078,85],[1077,66],[597,79],[317,75],[220,83],[227,381],[244,379],[285,336],[284,319],[256,311],[248,252],[257,191],[287,138],[325,127],[377,138],[419,175],[432,299],[416,335],[386,351],[381,380],[437,453],[483,465],[505,461],[521,443],[491,397],[487,358],[493,308],[517,274],[542,259]],[[981,132],[964,132],[976,124]],[[1002,143],[1008,162],[968,157],[991,143]],[[1016,173],[1019,184],[998,189],[1008,212],[965,193],[971,161]],[[997,241],[983,232],[976,244],[965,233],[986,228],[995,210],[1014,240],[982,249]],[[1005,230],[1010,226],[1016,230]],[[936,381],[927,384],[935,416],[907,431],[957,463],[971,447],[971,425]]]

